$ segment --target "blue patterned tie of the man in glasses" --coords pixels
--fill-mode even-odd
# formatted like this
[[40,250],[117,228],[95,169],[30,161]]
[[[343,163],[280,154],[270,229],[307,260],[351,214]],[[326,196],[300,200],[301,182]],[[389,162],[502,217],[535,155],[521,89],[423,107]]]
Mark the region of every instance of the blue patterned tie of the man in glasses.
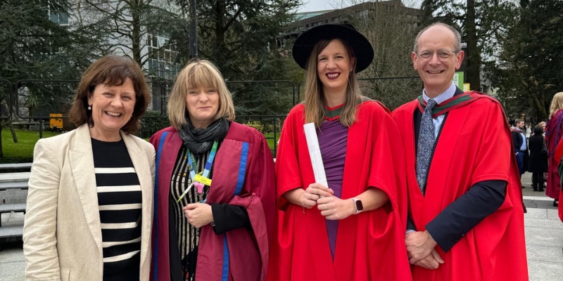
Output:
[[422,191],[422,195],[426,191],[426,175],[428,174],[430,158],[432,157],[432,148],[434,148],[434,122],[432,122],[432,109],[436,106],[436,101],[429,99],[424,113],[420,120],[420,132],[418,136],[417,147],[417,182]]

